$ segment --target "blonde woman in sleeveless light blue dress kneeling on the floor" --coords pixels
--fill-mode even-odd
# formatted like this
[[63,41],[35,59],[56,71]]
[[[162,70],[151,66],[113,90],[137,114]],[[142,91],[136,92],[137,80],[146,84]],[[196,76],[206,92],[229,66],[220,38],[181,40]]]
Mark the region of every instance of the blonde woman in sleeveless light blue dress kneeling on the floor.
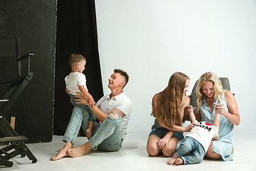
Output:
[[220,138],[210,143],[205,157],[210,159],[222,158],[225,161],[233,160],[232,157],[229,157],[234,150],[232,135],[234,125],[240,124],[238,105],[233,93],[223,90],[218,76],[208,72],[201,76],[196,88],[196,95],[198,96],[196,120],[213,123],[215,113],[221,114]]

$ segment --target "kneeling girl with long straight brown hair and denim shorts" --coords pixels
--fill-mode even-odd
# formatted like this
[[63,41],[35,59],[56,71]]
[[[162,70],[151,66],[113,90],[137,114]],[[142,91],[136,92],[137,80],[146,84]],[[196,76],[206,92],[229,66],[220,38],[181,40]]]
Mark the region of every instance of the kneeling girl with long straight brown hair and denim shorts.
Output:
[[183,132],[191,130],[192,125],[181,127],[184,109],[189,103],[189,98],[186,96],[188,86],[188,76],[176,72],[169,79],[168,86],[154,95],[151,115],[156,120],[146,144],[149,155],[156,156],[160,152],[166,157],[174,155],[178,141],[184,138]]

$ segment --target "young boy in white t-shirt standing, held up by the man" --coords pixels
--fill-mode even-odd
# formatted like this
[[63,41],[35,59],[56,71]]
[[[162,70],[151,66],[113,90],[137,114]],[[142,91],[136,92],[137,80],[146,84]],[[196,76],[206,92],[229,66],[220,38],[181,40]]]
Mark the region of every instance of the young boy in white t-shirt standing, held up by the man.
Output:
[[65,77],[66,92],[72,98],[73,105],[78,105],[81,108],[85,108],[90,114],[90,122],[88,129],[86,130],[86,136],[88,139],[90,139],[92,137],[92,126],[96,121],[96,117],[95,115],[93,115],[92,110],[90,110],[89,106],[75,103],[74,100],[74,95],[77,95],[77,92],[79,92],[89,98],[90,106],[96,105],[95,101],[92,98],[92,95],[90,95],[87,90],[85,74],[82,73],[82,71],[85,70],[86,60],[85,57],[83,57],[82,55],[78,53],[73,53],[70,55],[68,62],[72,71],[68,76]]

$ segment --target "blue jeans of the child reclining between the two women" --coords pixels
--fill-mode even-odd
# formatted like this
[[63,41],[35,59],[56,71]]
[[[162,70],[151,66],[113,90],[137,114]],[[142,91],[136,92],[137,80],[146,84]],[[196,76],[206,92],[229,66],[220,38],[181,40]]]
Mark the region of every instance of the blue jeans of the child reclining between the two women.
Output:
[[[187,153],[189,155],[185,156]],[[176,149],[175,154],[183,160],[184,165],[190,165],[202,162],[205,150],[203,149],[203,145],[197,140],[186,137]]]

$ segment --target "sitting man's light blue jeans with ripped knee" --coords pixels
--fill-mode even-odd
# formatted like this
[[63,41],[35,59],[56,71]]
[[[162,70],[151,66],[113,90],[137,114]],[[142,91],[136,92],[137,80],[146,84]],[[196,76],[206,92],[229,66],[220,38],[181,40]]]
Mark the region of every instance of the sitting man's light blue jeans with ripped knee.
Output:
[[[117,117],[117,115],[118,117]],[[80,127],[87,130],[89,113],[78,106],[73,108],[70,123],[65,131],[63,141],[72,142],[78,137]],[[122,116],[118,112],[107,115],[102,124],[95,123],[92,127],[92,138],[89,140],[94,149],[102,151],[117,151],[122,147]]]

